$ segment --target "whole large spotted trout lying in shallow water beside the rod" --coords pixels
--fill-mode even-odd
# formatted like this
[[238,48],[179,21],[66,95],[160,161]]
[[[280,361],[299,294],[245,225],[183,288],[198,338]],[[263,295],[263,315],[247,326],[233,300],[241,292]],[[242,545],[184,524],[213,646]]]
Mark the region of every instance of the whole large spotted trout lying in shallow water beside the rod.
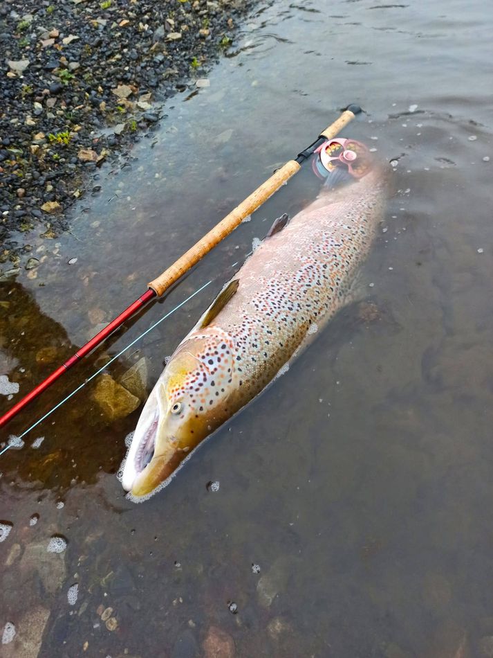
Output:
[[382,218],[386,176],[331,188],[279,217],[167,362],[122,468],[131,495],[169,481],[215,429],[286,368],[351,298]]

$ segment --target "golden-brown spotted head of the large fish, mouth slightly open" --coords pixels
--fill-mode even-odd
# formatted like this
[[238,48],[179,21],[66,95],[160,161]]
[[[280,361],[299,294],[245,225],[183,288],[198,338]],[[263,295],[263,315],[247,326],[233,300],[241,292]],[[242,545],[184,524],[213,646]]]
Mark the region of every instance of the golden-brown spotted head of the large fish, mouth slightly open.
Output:
[[234,344],[207,328],[171,356],[140,415],[122,475],[133,495],[153,491],[198,443],[232,415]]

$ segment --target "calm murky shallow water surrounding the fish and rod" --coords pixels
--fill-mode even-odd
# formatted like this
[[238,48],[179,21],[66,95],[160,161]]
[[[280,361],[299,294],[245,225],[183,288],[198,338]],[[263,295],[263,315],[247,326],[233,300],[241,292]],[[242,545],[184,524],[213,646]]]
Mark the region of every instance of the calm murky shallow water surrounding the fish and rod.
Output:
[[[50,658],[201,656],[211,627],[239,657],[491,655],[492,24],[476,0],[262,6],[210,87],[174,98],[72,233],[39,242],[32,278],[0,284],[15,401],[55,365],[41,347],[68,356],[342,105],[367,112],[345,134],[398,159],[362,301],[159,495],[124,499],[138,411],[107,423],[89,385],[0,457],[1,628],[46,623]],[[315,191],[301,172],[8,434],[217,277],[110,368],[145,355],[154,383],[252,240]]]

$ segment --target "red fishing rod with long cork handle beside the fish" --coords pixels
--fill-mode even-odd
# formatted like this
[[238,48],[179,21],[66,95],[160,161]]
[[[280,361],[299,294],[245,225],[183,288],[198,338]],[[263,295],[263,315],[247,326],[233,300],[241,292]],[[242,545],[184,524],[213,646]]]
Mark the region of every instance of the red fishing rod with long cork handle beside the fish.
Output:
[[91,340],[83,345],[75,354],[59,366],[51,375],[46,377],[44,381],[37,384],[30,393],[24,396],[17,404],[9,409],[6,414],[0,417],[0,427],[6,425],[12,418],[15,418],[24,407],[26,407],[32,400],[35,400],[43,391],[46,391],[51,384],[56,382],[59,377],[62,377],[68,370],[73,368],[81,359],[91,353],[98,345],[100,345],[109,335],[115,332],[122,324],[133,317],[143,306],[145,306],[151,299],[161,297],[171,285],[176,283],[189,269],[194,267],[199,260],[209,253],[219,242],[222,242],[227,235],[230,235],[237,226],[243,222],[245,217],[251,215],[257,210],[264,202],[267,201],[283,184],[285,184],[292,176],[294,176],[301,164],[304,163],[314,152],[321,146],[327,139],[333,139],[348,123],[353,121],[356,114],[360,114],[361,107],[359,105],[348,105],[342,112],[339,118],[336,119],[331,125],[323,130],[317,139],[310,144],[306,149],[301,151],[295,159],[289,160],[280,169],[276,170],[272,176],[264,181],[256,190],[254,190],[241,204],[236,206],[228,215],[226,215],[221,222],[218,222],[213,229],[206,233],[203,238],[198,240],[188,251],[185,251],[183,256],[170,267],[165,269],[158,277],[147,284],[147,291],[142,294],[136,301],[134,301],[128,308],[126,308],[118,317],[115,317],[104,329],[98,332]]

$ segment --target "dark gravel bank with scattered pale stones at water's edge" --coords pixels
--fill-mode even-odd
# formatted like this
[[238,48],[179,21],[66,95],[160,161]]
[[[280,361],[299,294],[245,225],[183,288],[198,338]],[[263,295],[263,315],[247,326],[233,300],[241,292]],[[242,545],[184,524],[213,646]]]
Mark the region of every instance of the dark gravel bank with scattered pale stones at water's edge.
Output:
[[41,222],[42,237],[56,238],[68,228],[65,213],[75,200],[97,192],[84,173],[154,130],[166,118],[161,107],[167,98],[207,84],[207,68],[230,49],[237,21],[253,3],[1,4],[3,276],[15,274],[20,249],[30,250],[18,231]]

